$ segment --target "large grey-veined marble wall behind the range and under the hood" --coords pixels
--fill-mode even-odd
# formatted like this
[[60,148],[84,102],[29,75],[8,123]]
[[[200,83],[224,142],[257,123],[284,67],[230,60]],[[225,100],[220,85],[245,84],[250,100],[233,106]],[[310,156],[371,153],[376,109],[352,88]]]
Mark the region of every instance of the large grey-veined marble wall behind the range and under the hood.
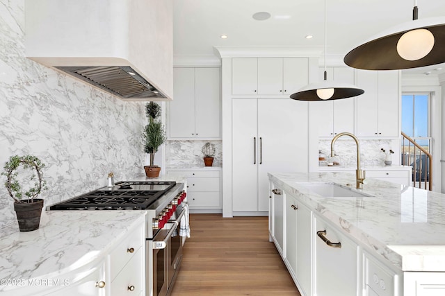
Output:
[[[45,206],[143,174],[145,103],[124,102],[25,57],[24,0],[0,0],[0,170],[35,155],[49,190]],[[0,228],[17,223],[0,176]]]

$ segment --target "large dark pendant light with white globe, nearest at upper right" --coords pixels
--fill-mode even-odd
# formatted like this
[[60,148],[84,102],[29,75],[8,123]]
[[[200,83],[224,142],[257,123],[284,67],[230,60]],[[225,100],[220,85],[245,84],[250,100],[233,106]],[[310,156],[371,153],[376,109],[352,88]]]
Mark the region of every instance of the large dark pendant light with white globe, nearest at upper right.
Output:
[[400,24],[357,46],[344,62],[357,69],[398,70],[445,62],[445,17],[418,19],[414,0],[412,21]]

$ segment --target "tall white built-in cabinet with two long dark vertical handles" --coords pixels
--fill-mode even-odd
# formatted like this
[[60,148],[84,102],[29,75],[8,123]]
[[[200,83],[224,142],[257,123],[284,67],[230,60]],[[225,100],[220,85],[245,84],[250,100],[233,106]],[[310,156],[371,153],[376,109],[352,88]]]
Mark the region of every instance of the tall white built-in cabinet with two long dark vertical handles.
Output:
[[308,103],[289,93],[318,60],[221,57],[223,216],[267,215],[267,173],[308,171]]

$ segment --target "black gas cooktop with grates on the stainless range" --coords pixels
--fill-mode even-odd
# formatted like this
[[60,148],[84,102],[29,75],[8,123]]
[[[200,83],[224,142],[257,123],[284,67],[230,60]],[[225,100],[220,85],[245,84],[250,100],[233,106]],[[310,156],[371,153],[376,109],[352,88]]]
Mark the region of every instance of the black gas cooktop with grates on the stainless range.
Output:
[[118,182],[113,187],[79,195],[49,207],[50,210],[137,210],[147,209],[176,182]]

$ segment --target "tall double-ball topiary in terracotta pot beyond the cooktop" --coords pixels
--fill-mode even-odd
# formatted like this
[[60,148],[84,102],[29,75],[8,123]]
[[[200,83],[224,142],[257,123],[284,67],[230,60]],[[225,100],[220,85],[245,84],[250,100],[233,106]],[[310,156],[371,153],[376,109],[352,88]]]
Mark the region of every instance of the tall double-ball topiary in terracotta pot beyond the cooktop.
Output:
[[154,165],[154,155],[166,139],[163,124],[159,119],[161,106],[154,102],[147,103],[145,113],[148,117],[148,124],[145,125],[143,133],[144,151],[150,155],[150,165],[144,166],[145,175],[150,178],[159,177],[161,167]]

